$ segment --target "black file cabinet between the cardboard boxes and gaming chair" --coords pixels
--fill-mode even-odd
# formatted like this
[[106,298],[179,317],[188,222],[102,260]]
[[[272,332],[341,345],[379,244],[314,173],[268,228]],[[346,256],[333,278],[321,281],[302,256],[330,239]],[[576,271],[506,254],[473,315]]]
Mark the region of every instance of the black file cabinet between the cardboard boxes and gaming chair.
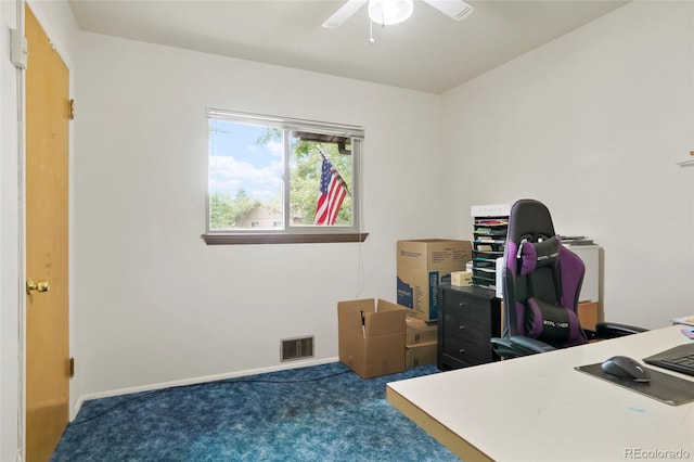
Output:
[[439,296],[438,369],[498,361],[490,343],[501,333],[501,299],[494,291],[441,285]]

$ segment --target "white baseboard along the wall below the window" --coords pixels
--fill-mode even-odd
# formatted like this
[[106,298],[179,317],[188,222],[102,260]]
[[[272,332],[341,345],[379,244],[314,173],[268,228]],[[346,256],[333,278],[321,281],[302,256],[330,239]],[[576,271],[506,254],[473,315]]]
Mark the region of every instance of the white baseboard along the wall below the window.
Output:
[[69,420],[70,422],[74,421],[75,418],[77,416],[77,413],[81,409],[82,403],[91,399],[112,398],[114,396],[129,395],[131,393],[152,392],[156,389],[164,389],[164,388],[170,388],[176,386],[197,385],[197,384],[203,384],[207,382],[222,381],[226,378],[245,377],[247,375],[265,374],[268,372],[278,372],[278,371],[286,371],[290,369],[308,368],[311,365],[327,364],[330,362],[337,362],[337,361],[339,361],[339,358],[322,358],[322,359],[312,359],[312,360],[292,361],[291,363],[282,363],[282,364],[271,365],[268,368],[248,369],[245,371],[229,372],[226,374],[206,375],[201,377],[183,378],[180,381],[163,382],[157,384],[140,385],[140,386],[129,387],[129,388],[112,389],[108,392],[92,393],[88,395],[82,395],[79,398],[77,398],[77,402],[75,402],[75,408],[70,413]]

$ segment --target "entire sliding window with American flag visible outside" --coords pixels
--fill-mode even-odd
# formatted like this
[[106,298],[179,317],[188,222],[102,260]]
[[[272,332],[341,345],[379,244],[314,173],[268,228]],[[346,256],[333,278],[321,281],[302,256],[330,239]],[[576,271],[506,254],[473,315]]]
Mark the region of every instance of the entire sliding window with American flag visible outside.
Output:
[[357,242],[361,127],[207,110],[208,244]]

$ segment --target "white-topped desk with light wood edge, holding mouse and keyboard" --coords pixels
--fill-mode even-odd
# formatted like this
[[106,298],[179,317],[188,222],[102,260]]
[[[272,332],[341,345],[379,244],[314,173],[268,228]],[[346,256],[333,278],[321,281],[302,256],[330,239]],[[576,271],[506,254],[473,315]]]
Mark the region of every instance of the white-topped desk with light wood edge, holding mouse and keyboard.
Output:
[[639,450],[693,461],[694,402],[668,406],[574,370],[617,355],[642,362],[692,342],[681,329],[391,382],[386,397],[465,462],[667,460]]

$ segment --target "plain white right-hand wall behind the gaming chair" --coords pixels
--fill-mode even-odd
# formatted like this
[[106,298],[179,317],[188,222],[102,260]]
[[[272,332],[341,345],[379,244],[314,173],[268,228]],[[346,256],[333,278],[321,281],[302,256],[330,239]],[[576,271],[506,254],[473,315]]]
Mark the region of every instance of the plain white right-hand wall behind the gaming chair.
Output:
[[594,239],[607,320],[694,310],[693,26],[692,2],[633,2],[442,97],[448,194],[538,198]]

